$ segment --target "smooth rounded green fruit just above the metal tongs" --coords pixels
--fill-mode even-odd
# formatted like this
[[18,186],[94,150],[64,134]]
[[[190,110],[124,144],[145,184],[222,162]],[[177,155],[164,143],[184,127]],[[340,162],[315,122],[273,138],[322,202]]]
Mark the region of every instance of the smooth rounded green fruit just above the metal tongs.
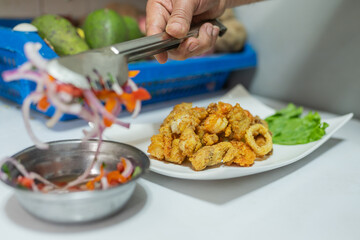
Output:
[[85,19],[86,42],[91,48],[101,48],[128,39],[125,20],[111,9],[98,9]]

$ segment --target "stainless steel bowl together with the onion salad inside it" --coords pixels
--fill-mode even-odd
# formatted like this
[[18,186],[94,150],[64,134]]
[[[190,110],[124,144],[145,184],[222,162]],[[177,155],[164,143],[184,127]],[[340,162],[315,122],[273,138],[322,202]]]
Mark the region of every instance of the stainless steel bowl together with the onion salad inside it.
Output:
[[150,165],[145,153],[124,143],[47,144],[48,149],[32,146],[3,160],[0,177],[28,212],[52,222],[86,222],[116,213]]

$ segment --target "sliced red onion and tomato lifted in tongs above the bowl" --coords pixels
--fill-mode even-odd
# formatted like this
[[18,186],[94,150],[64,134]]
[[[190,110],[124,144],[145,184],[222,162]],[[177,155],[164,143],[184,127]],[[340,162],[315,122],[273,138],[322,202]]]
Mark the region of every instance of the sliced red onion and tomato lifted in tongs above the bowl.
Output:
[[[92,122],[93,129],[84,131],[83,139],[87,140],[94,137],[101,139],[102,132],[114,123],[129,127],[128,123],[116,118],[121,111],[121,105],[124,105],[129,112],[133,112],[133,117],[136,117],[141,109],[141,101],[151,97],[144,88],[138,88],[130,78],[122,87],[120,94],[108,89],[80,89],[57,81],[48,74],[47,60],[40,55],[40,48],[41,44],[26,43],[24,52],[29,62],[15,70],[3,72],[5,81],[28,79],[37,84],[36,90],[24,100],[22,111],[26,129],[38,148],[44,149],[48,146],[37,139],[31,130],[29,107],[32,103],[43,111],[46,111],[50,104],[55,107],[54,115],[47,122],[49,127],[54,126],[64,113],[77,115],[87,122]],[[129,76],[134,77],[138,73],[139,71],[130,71]]]

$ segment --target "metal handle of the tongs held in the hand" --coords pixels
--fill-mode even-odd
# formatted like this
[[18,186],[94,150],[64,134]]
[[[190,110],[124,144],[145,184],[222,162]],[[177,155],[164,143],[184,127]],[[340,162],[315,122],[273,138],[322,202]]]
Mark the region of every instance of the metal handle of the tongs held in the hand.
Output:
[[[206,21],[220,28],[219,36],[226,32],[226,27],[217,19]],[[166,32],[158,33],[148,37],[142,37],[128,42],[112,45],[112,51],[124,55],[129,62],[150,57],[155,54],[177,48],[179,44],[189,37],[197,37],[199,29],[205,22],[198,23],[190,28],[188,34],[182,38],[171,37]]]

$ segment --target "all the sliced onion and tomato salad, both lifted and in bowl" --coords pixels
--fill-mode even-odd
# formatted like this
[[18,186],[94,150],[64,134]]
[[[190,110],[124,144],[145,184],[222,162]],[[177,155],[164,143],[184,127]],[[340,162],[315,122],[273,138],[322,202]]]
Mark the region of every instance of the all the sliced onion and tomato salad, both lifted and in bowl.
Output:
[[[87,189],[96,189],[98,182],[101,180],[101,188],[107,188],[107,185],[112,185],[113,180],[118,179],[119,183],[127,181],[129,176],[133,174],[134,166],[132,163],[123,158],[121,160],[122,168],[119,167],[118,173],[106,173],[102,172],[100,176],[90,176],[91,169],[97,161],[97,154],[102,143],[102,134],[107,127],[112,124],[119,124],[123,127],[129,127],[129,123],[119,121],[116,117],[122,111],[122,106],[133,113],[133,117],[139,114],[141,109],[141,101],[150,99],[150,94],[143,88],[138,88],[136,84],[130,79],[130,77],[136,76],[138,72],[133,71],[129,73],[128,81],[117,91],[114,91],[103,86],[102,79],[99,79],[98,84],[103,88],[80,89],[70,84],[62,83],[52,76],[50,76],[46,70],[47,60],[43,59],[39,54],[41,44],[39,43],[27,43],[24,46],[24,52],[28,58],[28,62],[21,65],[14,70],[8,70],[3,72],[3,79],[5,81],[16,81],[20,79],[27,79],[36,83],[36,89],[31,92],[24,100],[22,105],[23,118],[25,127],[28,131],[30,138],[34,141],[35,145],[40,149],[48,148],[48,144],[41,142],[33,133],[30,127],[30,106],[35,104],[39,110],[47,111],[50,105],[54,106],[55,113],[47,121],[47,126],[54,126],[64,113],[73,114],[79,118],[84,119],[87,122],[93,123],[91,131],[84,130],[83,140],[90,138],[98,138],[98,146],[96,154],[92,164],[85,170],[85,172],[73,181],[67,183],[62,190],[70,190],[70,187],[78,186],[78,184],[87,182]],[[26,169],[15,159],[4,159],[1,161],[2,172],[6,162],[10,162],[15,165],[22,173],[18,183],[20,185],[30,186],[33,190],[38,190],[35,180],[40,181],[46,185],[46,189],[57,187],[49,182],[47,179],[42,178],[36,173],[27,173]],[[120,166],[120,165],[119,165]],[[103,169],[104,170],[104,169]],[[109,175],[110,174],[110,175]],[[3,175],[4,176],[4,175]],[[108,183],[104,178],[108,179]],[[111,179],[109,180],[109,177]],[[31,183],[31,180],[33,181]],[[29,185],[29,183],[31,183]],[[83,187],[82,187],[83,188]]]

